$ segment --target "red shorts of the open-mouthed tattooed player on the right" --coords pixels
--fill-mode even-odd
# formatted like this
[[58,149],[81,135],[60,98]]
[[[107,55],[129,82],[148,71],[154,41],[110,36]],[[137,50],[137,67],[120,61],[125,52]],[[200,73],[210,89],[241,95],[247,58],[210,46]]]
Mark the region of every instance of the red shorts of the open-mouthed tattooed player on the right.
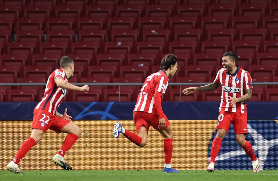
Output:
[[217,129],[225,129],[227,134],[233,122],[235,134],[247,134],[247,114],[241,112],[220,111],[217,120]]

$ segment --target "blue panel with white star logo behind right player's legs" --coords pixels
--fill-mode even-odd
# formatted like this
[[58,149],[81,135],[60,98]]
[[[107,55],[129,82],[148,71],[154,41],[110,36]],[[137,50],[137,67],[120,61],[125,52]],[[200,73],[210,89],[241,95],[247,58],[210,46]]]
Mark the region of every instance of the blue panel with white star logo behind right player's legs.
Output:
[[[252,144],[262,169],[277,169],[278,123],[274,120],[249,120],[246,140]],[[208,162],[211,144],[216,135],[214,132],[208,145]],[[252,170],[250,158],[235,141],[234,128],[231,125],[229,134],[225,135],[219,154],[215,159],[217,170]]]

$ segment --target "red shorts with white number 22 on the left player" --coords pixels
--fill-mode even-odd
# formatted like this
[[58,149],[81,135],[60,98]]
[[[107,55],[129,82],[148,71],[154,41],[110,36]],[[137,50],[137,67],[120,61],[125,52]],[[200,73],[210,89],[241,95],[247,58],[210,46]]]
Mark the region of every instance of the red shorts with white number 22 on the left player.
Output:
[[43,132],[51,129],[56,133],[69,123],[68,120],[51,114],[44,109],[34,109],[34,117],[32,122],[32,129],[40,129]]

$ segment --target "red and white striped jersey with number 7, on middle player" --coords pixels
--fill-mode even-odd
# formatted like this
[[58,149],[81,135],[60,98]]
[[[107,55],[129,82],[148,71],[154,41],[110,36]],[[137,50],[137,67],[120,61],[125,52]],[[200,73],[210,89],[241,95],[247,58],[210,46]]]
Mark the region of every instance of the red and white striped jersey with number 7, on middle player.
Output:
[[145,82],[140,90],[137,102],[133,112],[143,111],[151,114],[157,114],[155,109],[153,95],[155,91],[165,94],[168,87],[168,77],[165,71],[161,70],[151,74],[145,79]]

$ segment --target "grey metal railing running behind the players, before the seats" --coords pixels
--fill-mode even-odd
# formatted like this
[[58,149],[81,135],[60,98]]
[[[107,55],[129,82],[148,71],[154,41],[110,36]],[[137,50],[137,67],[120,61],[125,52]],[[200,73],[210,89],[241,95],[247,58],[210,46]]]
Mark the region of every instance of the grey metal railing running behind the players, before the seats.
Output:
[[[183,82],[183,83],[168,83],[168,86],[180,86],[180,101],[182,95],[182,86],[192,85],[192,86],[202,86],[211,84],[212,82]],[[71,83],[75,86],[119,86],[119,102],[121,94],[121,86],[142,86],[143,83]],[[278,82],[253,82],[254,85],[278,85]],[[46,86],[46,83],[0,83],[0,86]]]

